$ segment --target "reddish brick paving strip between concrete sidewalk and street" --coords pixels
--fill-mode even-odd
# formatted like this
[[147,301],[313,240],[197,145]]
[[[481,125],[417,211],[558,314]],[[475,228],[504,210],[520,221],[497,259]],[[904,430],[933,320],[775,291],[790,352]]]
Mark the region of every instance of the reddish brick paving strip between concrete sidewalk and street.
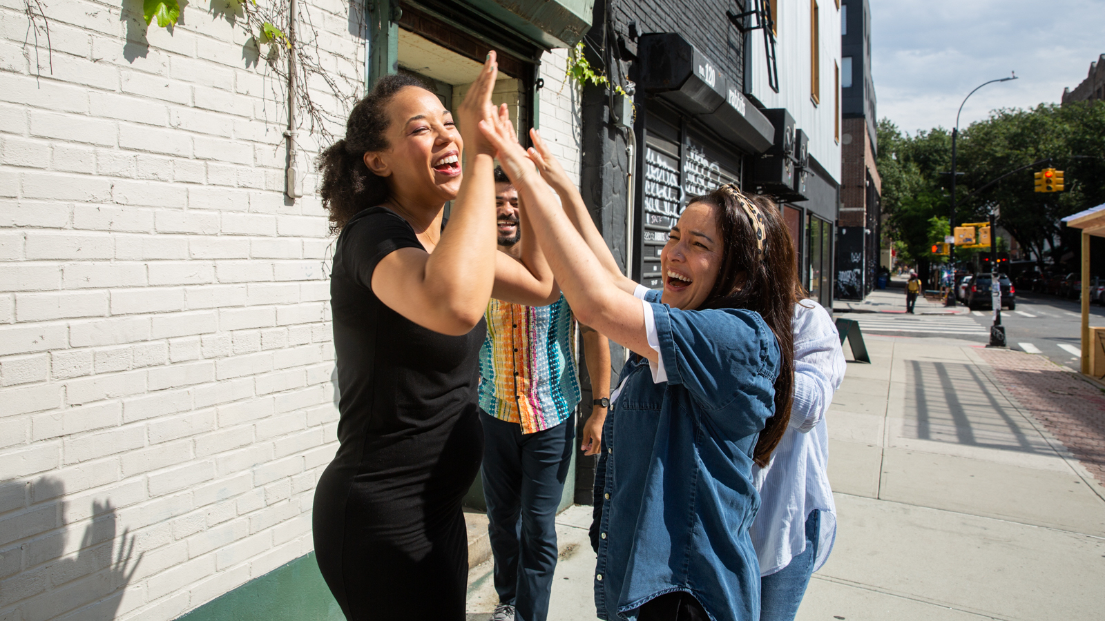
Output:
[[1105,485],[1105,394],[1043,356],[979,349],[1013,397]]

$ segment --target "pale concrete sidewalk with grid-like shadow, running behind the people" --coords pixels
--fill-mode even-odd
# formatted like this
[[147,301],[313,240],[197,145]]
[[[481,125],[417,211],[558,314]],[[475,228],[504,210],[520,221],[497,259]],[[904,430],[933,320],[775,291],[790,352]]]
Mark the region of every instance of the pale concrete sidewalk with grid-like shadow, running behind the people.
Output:
[[[965,340],[866,343],[873,364],[849,362],[830,410],[839,531],[799,621],[1105,619],[1105,487],[1010,371]],[[589,523],[590,507],[559,520],[550,621],[594,618]],[[484,585],[470,619],[494,607]]]

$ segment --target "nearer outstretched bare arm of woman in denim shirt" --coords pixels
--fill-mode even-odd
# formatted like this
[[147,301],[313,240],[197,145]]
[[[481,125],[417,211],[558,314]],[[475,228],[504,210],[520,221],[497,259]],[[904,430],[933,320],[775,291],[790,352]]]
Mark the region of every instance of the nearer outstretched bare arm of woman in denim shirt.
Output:
[[611,283],[609,272],[518,145],[509,119],[484,119],[480,128],[498,149],[503,170],[518,190],[519,200],[525,201],[535,236],[579,322],[656,362],[659,357],[649,346],[641,301]]

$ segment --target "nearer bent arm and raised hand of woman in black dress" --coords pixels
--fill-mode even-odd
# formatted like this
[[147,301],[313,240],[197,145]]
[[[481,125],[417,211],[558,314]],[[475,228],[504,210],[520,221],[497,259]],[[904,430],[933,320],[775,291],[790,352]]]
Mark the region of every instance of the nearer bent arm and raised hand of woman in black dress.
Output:
[[372,291],[388,307],[422,327],[448,335],[467,334],[483,317],[495,282],[496,148],[478,130],[497,116],[491,103],[497,65],[487,55],[480,76],[457,110],[464,139],[464,177],[449,227],[433,252],[401,248],[372,273]]

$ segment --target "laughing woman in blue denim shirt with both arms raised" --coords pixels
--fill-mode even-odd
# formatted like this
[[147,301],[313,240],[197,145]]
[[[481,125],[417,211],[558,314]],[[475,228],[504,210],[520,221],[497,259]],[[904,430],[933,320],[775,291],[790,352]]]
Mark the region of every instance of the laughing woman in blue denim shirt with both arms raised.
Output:
[[793,382],[793,246],[766,225],[778,208],[732,185],[691,199],[649,291],[621,275],[536,131],[526,154],[505,110],[481,128],[579,320],[636,354],[601,438],[598,615],[758,619],[751,467],[787,429]]

